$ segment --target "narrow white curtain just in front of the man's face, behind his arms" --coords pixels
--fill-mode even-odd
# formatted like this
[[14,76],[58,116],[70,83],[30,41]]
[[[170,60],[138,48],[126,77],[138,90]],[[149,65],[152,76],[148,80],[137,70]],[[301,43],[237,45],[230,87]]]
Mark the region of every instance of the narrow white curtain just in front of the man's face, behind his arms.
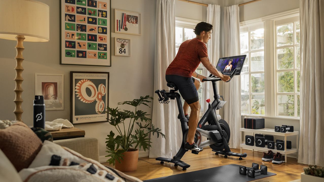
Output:
[[[207,43],[207,50],[209,60],[213,65],[216,65],[219,59],[219,27],[220,27],[220,16],[221,16],[221,8],[219,5],[208,5],[207,7],[207,23],[213,25],[213,33],[211,35],[211,40]],[[209,76],[209,72],[206,70],[206,74],[204,76]],[[217,82],[217,88],[219,87],[219,83]],[[218,89],[219,90],[219,89]],[[210,98],[214,100],[214,92],[212,82],[205,82],[205,98]],[[204,104],[204,108],[206,111],[208,109],[208,103],[204,100],[202,101]],[[218,114],[218,110],[217,110]]]

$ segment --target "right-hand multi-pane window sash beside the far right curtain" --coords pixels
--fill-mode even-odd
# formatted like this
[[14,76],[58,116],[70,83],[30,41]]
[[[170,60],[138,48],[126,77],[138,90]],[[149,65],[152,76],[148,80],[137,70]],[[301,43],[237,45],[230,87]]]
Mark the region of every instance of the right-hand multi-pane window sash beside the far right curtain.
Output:
[[299,117],[299,21],[276,26],[276,35],[276,115]]

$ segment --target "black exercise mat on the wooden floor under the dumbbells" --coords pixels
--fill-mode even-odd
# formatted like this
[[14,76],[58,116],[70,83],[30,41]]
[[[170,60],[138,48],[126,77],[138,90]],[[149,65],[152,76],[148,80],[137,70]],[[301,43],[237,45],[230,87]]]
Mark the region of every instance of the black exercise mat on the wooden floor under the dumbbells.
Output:
[[276,174],[268,171],[267,175],[255,173],[255,177],[240,175],[239,165],[230,164],[189,173],[159,177],[145,180],[144,182],[248,182],[256,179],[274,176]]

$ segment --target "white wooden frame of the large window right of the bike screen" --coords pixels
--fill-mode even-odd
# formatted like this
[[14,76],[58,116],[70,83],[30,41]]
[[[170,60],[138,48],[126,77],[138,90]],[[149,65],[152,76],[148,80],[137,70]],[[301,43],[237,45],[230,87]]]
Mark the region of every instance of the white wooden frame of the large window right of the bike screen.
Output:
[[[295,116],[279,116],[277,114],[277,34],[276,34],[276,27],[279,26],[279,23],[281,24],[288,24],[288,19],[294,19],[297,18],[294,22],[294,44],[290,45],[288,47],[294,47],[294,93],[289,93],[291,95],[294,95],[295,97]],[[286,21],[286,22],[285,22]],[[296,47],[300,46],[300,44],[296,44],[296,30],[295,30],[295,22],[299,21],[299,8],[285,11],[282,13],[277,13],[265,17],[260,17],[252,20],[247,20],[240,22],[240,33],[247,32],[246,29],[251,30],[251,27],[256,26],[258,24],[264,25],[264,76],[265,76],[265,115],[255,115],[255,114],[245,114],[241,113],[241,116],[252,116],[252,117],[263,117],[263,118],[276,118],[276,119],[291,119],[291,120],[299,120],[300,117],[297,116],[297,96],[300,95],[300,92],[297,92],[297,71],[300,71],[300,68],[296,68]],[[245,28],[245,31],[242,31],[242,28]],[[250,39],[250,34],[249,34]],[[249,40],[250,43],[250,40]],[[249,45],[250,50],[250,45]],[[241,54],[244,54],[246,52],[242,52]],[[271,60],[271,61],[269,61]],[[249,71],[250,71],[250,53],[249,53]],[[283,70],[279,70],[281,72]],[[242,74],[246,74],[247,72],[242,72]],[[249,72],[249,83],[251,83],[251,76]],[[249,89],[251,89],[249,84]],[[249,90],[251,92],[251,90]],[[248,94],[242,94],[242,95],[248,95]],[[285,94],[283,94],[285,95]],[[249,95],[249,99],[251,100],[251,96]],[[251,102],[249,102],[249,113],[251,112]]]

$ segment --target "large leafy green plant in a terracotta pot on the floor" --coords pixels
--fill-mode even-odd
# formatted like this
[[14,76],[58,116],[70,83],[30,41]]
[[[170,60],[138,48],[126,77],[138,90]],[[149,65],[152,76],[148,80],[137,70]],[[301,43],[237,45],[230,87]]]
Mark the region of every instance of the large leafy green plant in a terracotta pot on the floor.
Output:
[[[115,165],[117,170],[131,172],[137,169],[138,150],[136,148],[138,147],[140,150],[143,148],[146,151],[151,146],[150,143],[152,142],[148,138],[150,133],[153,135],[156,133],[157,138],[160,134],[165,138],[165,135],[160,132],[161,130],[154,127],[152,119],[146,117],[149,114],[138,110],[138,107],[141,105],[149,107],[147,103],[151,102],[150,100],[152,99],[153,97],[150,96],[141,96],[133,101],[118,103],[118,105],[131,105],[135,107],[134,111],[120,110],[118,107],[107,108],[106,112],[110,115],[108,122],[116,128],[118,134],[115,136],[115,133],[110,131],[109,135],[107,135],[106,148],[108,150],[106,152],[109,155],[106,155],[106,157],[110,157],[107,162]],[[130,121],[129,124],[125,123],[128,119]]]

